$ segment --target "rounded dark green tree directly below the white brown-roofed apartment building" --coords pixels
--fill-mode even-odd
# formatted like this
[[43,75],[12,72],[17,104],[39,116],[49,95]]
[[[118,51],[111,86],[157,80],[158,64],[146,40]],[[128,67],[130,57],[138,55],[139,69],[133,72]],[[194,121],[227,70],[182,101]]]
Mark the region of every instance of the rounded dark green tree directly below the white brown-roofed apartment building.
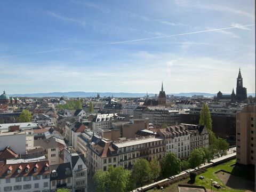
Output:
[[162,158],[161,167],[163,176],[170,177],[181,172],[181,161],[170,152]]

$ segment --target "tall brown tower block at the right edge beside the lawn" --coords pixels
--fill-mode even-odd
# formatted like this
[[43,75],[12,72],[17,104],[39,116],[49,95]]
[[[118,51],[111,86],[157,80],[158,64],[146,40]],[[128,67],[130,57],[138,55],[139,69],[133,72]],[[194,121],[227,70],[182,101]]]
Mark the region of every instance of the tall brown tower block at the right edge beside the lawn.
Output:
[[236,113],[236,160],[244,165],[255,165],[256,106],[245,106]]

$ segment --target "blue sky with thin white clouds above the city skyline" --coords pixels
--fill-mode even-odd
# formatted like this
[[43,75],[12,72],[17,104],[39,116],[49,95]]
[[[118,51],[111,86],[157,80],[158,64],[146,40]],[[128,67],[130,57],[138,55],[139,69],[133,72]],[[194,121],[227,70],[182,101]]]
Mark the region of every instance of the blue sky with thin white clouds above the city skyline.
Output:
[[0,90],[157,93],[163,81],[167,93],[231,93],[241,67],[247,93],[254,93],[254,6],[2,1]]

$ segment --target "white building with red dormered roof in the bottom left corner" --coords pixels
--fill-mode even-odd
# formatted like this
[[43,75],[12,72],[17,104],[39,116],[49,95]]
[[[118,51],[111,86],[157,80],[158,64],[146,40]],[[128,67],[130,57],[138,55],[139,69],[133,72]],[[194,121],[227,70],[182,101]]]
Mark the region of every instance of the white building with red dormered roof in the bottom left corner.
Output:
[[39,159],[6,159],[0,165],[0,183],[0,191],[49,192],[49,162]]

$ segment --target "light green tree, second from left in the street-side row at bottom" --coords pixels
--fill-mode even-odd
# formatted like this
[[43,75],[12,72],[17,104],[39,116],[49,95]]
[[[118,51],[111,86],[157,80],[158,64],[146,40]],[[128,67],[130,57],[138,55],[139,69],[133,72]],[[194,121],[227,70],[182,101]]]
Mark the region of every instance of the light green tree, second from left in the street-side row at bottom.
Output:
[[129,183],[131,171],[124,170],[122,166],[108,168],[108,186],[111,192],[124,192]]

